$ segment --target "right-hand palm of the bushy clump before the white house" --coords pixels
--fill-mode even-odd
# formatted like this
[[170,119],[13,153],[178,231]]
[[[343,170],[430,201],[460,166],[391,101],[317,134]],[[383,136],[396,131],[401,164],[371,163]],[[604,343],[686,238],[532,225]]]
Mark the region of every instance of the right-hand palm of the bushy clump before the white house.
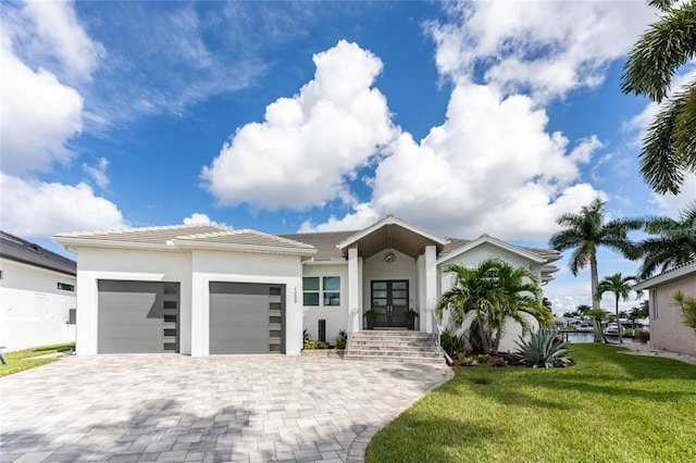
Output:
[[531,326],[524,314],[536,318],[544,327],[554,322],[554,314],[543,303],[539,278],[526,267],[515,267],[507,262],[498,261],[495,270],[498,303],[488,318],[488,327],[493,334],[493,353],[498,352],[500,340],[505,336],[507,318],[512,318],[522,326],[522,333]]

